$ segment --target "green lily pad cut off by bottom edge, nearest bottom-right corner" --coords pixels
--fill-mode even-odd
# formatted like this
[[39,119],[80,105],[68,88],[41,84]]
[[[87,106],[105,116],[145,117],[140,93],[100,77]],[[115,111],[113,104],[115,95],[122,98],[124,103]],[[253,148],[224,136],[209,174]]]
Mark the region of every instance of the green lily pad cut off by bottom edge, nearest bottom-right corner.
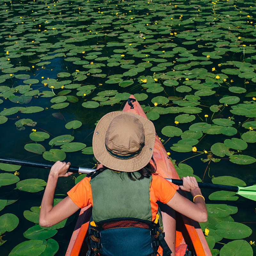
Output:
[[252,256],[252,247],[244,240],[231,241],[220,249],[220,256]]

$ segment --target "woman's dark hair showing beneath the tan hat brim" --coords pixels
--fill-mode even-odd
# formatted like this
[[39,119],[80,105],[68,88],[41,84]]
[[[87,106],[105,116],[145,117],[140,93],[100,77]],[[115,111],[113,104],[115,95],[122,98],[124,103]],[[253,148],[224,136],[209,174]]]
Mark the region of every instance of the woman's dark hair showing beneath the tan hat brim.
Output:
[[[140,174],[140,177],[137,177],[138,175],[135,175],[135,172],[120,172],[121,178],[122,178],[122,175],[125,175],[125,174],[127,174],[130,180],[142,180],[144,178],[149,178],[152,175],[152,173],[156,173],[156,162],[153,156],[151,157],[151,160],[153,162],[153,165],[149,162],[146,166],[141,168],[139,171],[136,171],[137,173]],[[108,167],[103,165],[103,167],[99,168],[98,171],[103,172],[106,169],[108,169]]]

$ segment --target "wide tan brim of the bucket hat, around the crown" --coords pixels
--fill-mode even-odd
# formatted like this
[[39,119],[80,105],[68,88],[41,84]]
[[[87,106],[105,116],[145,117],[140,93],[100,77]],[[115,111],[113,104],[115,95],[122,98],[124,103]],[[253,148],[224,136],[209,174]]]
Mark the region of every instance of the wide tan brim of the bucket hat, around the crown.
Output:
[[[139,155],[131,159],[118,159],[114,156],[111,156],[105,147],[105,136],[109,124],[116,116],[124,114],[138,118],[143,124],[145,134],[145,146],[141,149]],[[110,112],[100,119],[94,130],[92,138],[93,154],[101,164],[111,170],[121,172],[135,172],[145,167],[149,163],[153,155],[155,136],[155,126],[147,118],[125,111]]]

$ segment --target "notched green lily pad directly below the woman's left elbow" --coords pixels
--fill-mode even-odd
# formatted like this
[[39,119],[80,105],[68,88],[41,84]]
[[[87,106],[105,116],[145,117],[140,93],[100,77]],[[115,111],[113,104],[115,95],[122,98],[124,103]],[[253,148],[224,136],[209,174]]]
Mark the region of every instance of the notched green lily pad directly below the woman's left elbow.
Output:
[[56,229],[52,229],[52,230],[48,230],[48,229],[43,229],[40,228],[39,225],[35,225],[31,228],[28,228],[28,230],[26,230],[23,233],[23,236],[28,238],[28,239],[48,239],[52,236],[54,236],[56,233],[58,232],[58,230]]

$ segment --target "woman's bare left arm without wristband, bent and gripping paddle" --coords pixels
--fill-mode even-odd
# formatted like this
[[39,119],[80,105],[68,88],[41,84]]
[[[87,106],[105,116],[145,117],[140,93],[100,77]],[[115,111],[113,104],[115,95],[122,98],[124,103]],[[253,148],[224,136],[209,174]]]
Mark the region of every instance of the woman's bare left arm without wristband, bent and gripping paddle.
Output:
[[69,196],[53,207],[53,196],[59,177],[68,177],[72,172],[67,172],[70,163],[57,161],[52,165],[48,176],[44,196],[41,203],[39,224],[42,227],[50,227],[65,220],[80,208],[73,203]]

